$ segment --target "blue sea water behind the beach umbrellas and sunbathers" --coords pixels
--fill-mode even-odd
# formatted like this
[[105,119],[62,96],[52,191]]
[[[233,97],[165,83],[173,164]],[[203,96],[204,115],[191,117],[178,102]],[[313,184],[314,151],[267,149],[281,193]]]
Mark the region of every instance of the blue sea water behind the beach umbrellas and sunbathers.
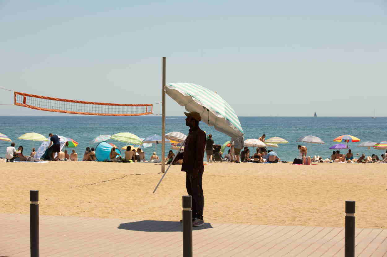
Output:
[[[380,156],[385,150],[368,149],[357,147],[357,145],[368,140],[387,141],[387,117],[239,117],[239,120],[245,133],[245,139],[257,139],[262,134],[266,134],[266,139],[281,137],[288,140],[288,144],[278,144],[279,147],[268,148],[273,149],[283,161],[293,161],[294,158],[299,157],[298,144],[306,145],[310,156],[319,155],[323,158],[330,158],[332,150],[329,147],[338,144],[333,142],[333,139],[340,135],[348,134],[361,139],[360,142],[348,143],[354,156],[356,153]],[[185,117],[166,117],[165,126],[166,133],[179,131],[188,134]],[[223,145],[230,140],[228,135],[216,131],[214,127],[209,127],[204,122],[200,122],[199,126],[207,135],[212,134],[215,144]],[[71,153],[71,150],[75,149],[78,159],[82,160],[86,147],[97,146],[91,141],[98,135],[113,135],[120,132],[130,132],[142,138],[154,134],[161,135],[161,116],[0,116],[0,133],[12,139],[16,148],[22,145],[24,155],[29,155],[33,147],[38,149],[41,144],[41,142],[17,139],[28,132],[36,132],[45,137],[53,133],[74,139],[79,145],[75,148],[67,148],[67,150]],[[297,139],[306,135],[320,137],[325,144],[296,142]],[[127,145],[111,139],[108,142],[120,148]],[[0,157],[4,158],[5,150],[9,145],[9,142],[0,140]],[[166,154],[170,147],[170,144],[166,145]],[[141,148],[146,154],[146,159],[149,159],[154,151],[161,156],[161,144]],[[253,151],[252,147],[249,149]],[[176,152],[176,150],[173,151]],[[346,153],[347,149],[340,152]]]

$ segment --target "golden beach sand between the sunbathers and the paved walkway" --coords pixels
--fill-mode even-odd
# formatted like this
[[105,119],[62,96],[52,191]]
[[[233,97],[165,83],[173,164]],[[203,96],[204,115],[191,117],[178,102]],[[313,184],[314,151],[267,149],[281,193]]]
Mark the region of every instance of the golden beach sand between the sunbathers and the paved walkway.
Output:
[[[185,172],[160,164],[0,161],[0,213],[29,213],[39,190],[41,215],[167,220],[181,218]],[[345,200],[356,227],[387,224],[387,164],[319,163],[205,166],[205,222],[343,227]]]

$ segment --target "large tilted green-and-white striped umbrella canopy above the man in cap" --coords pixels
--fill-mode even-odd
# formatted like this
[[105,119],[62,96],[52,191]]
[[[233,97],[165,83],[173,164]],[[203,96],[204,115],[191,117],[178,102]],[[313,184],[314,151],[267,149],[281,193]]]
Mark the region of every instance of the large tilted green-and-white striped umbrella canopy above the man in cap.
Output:
[[168,83],[166,93],[188,112],[198,112],[202,121],[216,130],[240,137],[243,129],[231,106],[216,92],[192,83]]

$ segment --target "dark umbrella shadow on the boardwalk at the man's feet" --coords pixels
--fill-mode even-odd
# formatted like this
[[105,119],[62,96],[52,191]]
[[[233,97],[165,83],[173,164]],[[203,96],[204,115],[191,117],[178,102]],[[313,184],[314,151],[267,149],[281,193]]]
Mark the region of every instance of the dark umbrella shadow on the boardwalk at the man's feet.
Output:
[[[163,221],[163,220],[142,220],[128,223],[121,223],[117,228],[145,231],[145,232],[178,232],[183,231],[183,226],[179,221]],[[192,227],[192,230],[202,230],[212,228],[211,223],[204,223],[200,227]]]

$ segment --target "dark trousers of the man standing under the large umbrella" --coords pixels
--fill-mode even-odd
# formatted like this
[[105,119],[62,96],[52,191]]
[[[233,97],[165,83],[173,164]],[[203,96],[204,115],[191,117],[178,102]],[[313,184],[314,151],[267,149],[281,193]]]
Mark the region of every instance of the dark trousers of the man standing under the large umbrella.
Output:
[[203,219],[204,195],[202,187],[203,170],[197,176],[192,172],[185,172],[185,186],[188,195],[192,196],[192,218]]

